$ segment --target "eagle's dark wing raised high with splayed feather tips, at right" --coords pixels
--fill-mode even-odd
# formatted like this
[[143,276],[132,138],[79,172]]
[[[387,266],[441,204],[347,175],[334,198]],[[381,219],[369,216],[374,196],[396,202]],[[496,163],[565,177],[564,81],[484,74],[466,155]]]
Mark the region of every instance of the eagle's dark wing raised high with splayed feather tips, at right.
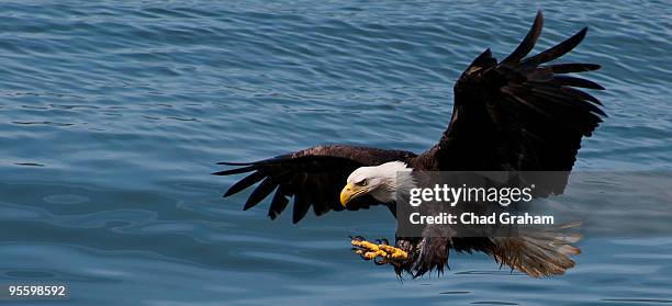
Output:
[[572,169],[581,138],[590,136],[606,114],[596,98],[575,89],[604,88],[567,73],[600,66],[547,64],[578,46],[586,27],[526,57],[542,24],[539,11],[527,36],[509,56],[497,63],[486,49],[456,82],[452,117],[434,151],[440,170]]

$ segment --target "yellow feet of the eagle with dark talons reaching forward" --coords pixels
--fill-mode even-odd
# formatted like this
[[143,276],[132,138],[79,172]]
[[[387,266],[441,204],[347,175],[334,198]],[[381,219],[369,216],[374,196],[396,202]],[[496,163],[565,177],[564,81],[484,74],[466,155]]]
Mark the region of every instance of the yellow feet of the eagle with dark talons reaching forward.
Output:
[[400,248],[392,247],[388,243],[388,239],[376,240],[376,242],[367,241],[363,237],[354,237],[350,241],[352,250],[363,260],[373,260],[376,264],[391,263],[401,265],[408,260],[408,253]]

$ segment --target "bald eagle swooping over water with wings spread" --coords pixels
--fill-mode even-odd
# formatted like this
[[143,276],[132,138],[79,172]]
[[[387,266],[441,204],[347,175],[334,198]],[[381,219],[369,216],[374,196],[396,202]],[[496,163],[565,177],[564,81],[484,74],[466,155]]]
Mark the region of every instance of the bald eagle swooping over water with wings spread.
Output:
[[[576,47],[587,27],[537,55],[527,56],[541,33],[539,11],[531,29],[514,49],[497,61],[485,49],[455,83],[452,116],[438,143],[423,154],[344,145],[316,146],[213,174],[249,173],[224,196],[256,183],[244,209],[271,193],[268,216],[275,219],[293,197],[293,223],[309,209],[320,216],[329,211],[356,211],[385,205],[394,213],[395,191],[406,182],[400,171],[563,171],[569,173],[582,137],[590,137],[606,114],[602,103],[576,88],[603,90],[600,84],[569,73],[597,70],[594,64],[549,64]],[[565,174],[569,175],[569,174]],[[567,182],[567,180],[565,180]],[[552,191],[562,193],[564,185]],[[432,230],[427,228],[426,230]],[[439,273],[452,249],[484,252],[500,264],[530,276],[563,274],[580,250],[576,236],[536,237],[395,237],[370,242],[351,240],[367,260],[392,262],[397,275]],[[381,262],[381,261],[379,261]]]

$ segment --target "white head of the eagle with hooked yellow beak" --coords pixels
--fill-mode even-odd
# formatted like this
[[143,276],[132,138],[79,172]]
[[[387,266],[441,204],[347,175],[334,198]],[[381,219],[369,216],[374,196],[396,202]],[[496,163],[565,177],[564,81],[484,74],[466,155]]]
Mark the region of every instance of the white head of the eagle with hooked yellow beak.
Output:
[[357,168],[350,173],[346,186],[340,192],[340,204],[346,206],[348,202],[365,194],[370,194],[382,203],[395,202],[397,192],[414,188],[411,171],[413,169],[402,161]]

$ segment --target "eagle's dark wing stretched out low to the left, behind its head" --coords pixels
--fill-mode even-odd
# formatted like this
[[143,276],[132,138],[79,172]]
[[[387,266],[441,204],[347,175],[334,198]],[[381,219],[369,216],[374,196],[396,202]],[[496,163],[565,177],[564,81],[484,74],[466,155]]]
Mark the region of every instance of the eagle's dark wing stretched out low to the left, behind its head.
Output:
[[[275,219],[294,199],[293,223],[305,216],[311,205],[316,215],[328,211],[343,211],[339,193],[348,175],[365,166],[378,166],[388,161],[407,160],[415,155],[402,150],[383,150],[351,146],[318,146],[293,154],[279,156],[249,163],[220,162],[220,165],[240,166],[240,168],[215,172],[229,175],[251,172],[234,185],[224,196],[238,193],[261,182],[249,195],[244,209],[248,209],[276,191],[268,215]],[[368,208],[379,204],[366,195],[348,203],[347,209]]]

